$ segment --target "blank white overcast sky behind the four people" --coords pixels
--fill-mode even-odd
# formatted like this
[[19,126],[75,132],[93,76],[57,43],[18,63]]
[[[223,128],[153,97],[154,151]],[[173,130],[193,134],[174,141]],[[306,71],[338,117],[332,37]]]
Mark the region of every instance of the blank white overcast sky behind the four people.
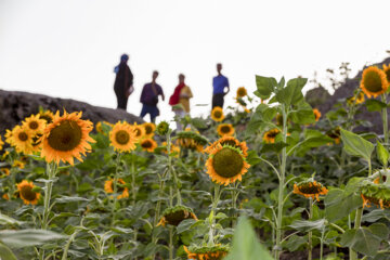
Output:
[[0,0],[0,89],[115,108],[113,69],[128,53],[129,113],[140,114],[156,69],[166,94],[159,119],[173,117],[168,100],[181,73],[194,94],[191,115],[207,116],[217,63],[230,80],[226,107],[236,106],[238,87],[256,90],[255,75],[317,72],[326,84],[326,69],[341,62],[354,76],[382,61],[389,8],[387,0]]

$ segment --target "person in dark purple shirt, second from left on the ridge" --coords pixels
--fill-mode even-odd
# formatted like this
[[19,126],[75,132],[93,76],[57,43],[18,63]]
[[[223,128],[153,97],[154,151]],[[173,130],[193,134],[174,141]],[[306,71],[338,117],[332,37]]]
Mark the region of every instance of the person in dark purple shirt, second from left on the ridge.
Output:
[[144,118],[146,114],[151,115],[151,122],[155,122],[156,117],[159,116],[157,107],[158,95],[161,95],[162,101],[165,100],[162,88],[156,83],[158,72],[154,70],[152,75],[152,82],[146,83],[141,93],[140,102],[142,103],[142,110],[140,117]]

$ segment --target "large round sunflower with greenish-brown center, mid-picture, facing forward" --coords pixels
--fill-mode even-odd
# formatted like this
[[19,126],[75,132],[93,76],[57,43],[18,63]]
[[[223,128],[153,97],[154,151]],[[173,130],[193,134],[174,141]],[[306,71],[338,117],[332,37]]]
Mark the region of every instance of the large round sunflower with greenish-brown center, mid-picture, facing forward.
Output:
[[217,144],[210,151],[209,158],[206,161],[207,174],[218,184],[227,185],[248,171],[250,165],[246,162],[243,152],[239,148]]

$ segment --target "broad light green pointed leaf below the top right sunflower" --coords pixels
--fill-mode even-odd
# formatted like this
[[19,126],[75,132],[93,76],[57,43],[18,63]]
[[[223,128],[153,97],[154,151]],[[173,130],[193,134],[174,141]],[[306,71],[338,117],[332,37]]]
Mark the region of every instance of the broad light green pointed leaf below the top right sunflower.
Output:
[[374,144],[344,129],[341,129],[341,140],[344,145],[343,148],[348,154],[362,157],[367,161],[370,160]]

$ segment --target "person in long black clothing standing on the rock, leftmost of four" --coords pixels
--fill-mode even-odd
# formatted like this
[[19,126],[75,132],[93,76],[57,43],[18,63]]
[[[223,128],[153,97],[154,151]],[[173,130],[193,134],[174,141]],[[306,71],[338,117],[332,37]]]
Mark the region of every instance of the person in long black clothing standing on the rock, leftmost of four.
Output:
[[129,55],[122,54],[120,56],[120,63],[114,68],[114,73],[116,74],[114,91],[118,102],[117,109],[119,108],[126,110],[129,95],[134,91],[132,86],[133,75],[130,70],[130,67],[127,65],[128,61]]

